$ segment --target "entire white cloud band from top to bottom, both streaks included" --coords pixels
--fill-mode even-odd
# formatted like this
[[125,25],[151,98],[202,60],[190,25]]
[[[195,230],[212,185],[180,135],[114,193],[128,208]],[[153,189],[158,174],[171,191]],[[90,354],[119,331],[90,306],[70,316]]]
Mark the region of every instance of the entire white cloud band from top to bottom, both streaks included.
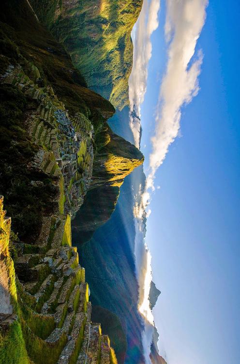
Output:
[[[151,281],[150,252],[144,243],[143,232],[146,208],[150,193],[154,190],[157,169],[162,165],[169,146],[180,131],[181,108],[191,102],[199,91],[198,78],[203,60],[202,51],[195,52],[196,43],[206,18],[208,0],[165,0],[165,37],[167,42],[167,64],[160,86],[155,117],[155,134],[151,138],[150,171],[145,191],[135,204],[135,257],[139,281],[139,312],[144,317],[143,347],[146,364],[150,363],[153,316],[149,308]],[[159,0],[150,5],[144,0],[143,9],[135,29],[134,64],[129,79],[130,126],[135,145],[140,143],[140,107],[147,88],[148,63],[151,57],[150,35],[158,27]],[[146,26],[147,24],[147,26]],[[139,116],[139,117],[135,117]]]

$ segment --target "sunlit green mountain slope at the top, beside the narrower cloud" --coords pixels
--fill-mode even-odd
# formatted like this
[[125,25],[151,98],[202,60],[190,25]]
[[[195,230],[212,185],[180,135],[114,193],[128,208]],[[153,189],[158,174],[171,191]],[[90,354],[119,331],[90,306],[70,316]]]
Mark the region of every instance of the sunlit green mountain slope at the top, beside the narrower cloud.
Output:
[[128,104],[131,31],[142,0],[31,0],[40,21],[64,44],[88,86],[119,109]]

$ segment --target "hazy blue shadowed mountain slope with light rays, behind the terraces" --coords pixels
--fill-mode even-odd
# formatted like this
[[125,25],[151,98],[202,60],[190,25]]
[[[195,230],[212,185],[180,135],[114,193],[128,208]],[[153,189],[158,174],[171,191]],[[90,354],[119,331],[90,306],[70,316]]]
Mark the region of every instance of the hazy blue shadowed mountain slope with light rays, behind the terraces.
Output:
[[[141,169],[135,168],[133,173]],[[91,287],[91,302],[110,310],[120,318],[127,336],[124,363],[143,364],[141,342],[142,320],[137,310],[138,283],[135,276],[133,196],[131,176],[125,178],[116,209],[85,244],[79,245],[81,234],[73,229],[73,242],[78,247],[80,261],[86,269]],[[76,216],[77,221],[78,216]],[[79,221],[80,223],[80,221]],[[102,320],[100,320],[102,324]],[[107,325],[111,332],[112,323]],[[113,325],[114,327],[114,325]],[[115,346],[120,363],[119,347]]]

